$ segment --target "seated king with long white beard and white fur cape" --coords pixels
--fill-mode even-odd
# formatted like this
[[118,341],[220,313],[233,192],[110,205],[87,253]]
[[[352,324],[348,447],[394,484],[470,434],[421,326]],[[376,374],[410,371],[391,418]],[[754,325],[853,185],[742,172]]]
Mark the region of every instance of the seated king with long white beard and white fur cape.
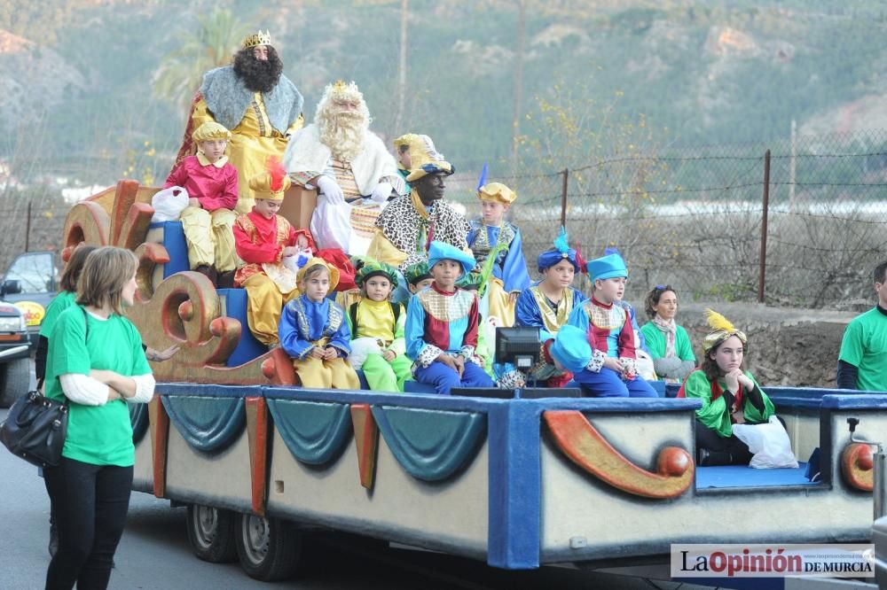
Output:
[[365,254],[389,197],[405,192],[394,157],[369,130],[371,120],[357,84],[340,80],[326,86],[314,122],[287,145],[290,178],[319,192],[311,217],[319,248]]

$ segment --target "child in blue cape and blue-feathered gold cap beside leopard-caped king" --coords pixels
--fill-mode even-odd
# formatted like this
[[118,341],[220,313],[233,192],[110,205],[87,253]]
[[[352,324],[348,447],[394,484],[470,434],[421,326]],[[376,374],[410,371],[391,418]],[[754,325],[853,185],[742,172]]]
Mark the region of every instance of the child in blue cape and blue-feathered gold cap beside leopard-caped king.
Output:
[[492,274],[487,280],[490,318],[495,325],[514,325],[514,304],[521,291],[530,286],[527,262],[523,259],[521,230],[505,220],[517,195],[501,182],[484,184],[477,191],[481,216],[469,221],[468,247],[475,254],[479,274],[488,257],[493,257]]

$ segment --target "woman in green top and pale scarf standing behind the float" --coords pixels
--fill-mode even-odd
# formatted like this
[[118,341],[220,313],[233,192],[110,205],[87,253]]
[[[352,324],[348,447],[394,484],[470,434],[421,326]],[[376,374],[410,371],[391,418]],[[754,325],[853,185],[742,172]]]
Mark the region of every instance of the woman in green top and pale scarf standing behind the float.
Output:
[[656,376],[667,383],[681,383],[696,367],[687,330],[674,321],[678,293],[670,284],[658,284],[645,301],[650,321],[641,326]]

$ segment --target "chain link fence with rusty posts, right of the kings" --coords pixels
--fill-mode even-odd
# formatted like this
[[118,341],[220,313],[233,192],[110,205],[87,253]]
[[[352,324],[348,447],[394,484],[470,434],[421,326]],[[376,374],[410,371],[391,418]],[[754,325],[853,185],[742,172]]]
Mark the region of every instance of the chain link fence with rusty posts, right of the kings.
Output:
[[[563,219],[586,259],[623,253],[635,302],[671,283],[705,301],[842,307],[871,299],[887,259],[887,130],[666,148],[492,181],[518,193],[510,218],[530,267]],[[476,214],[476,200],[467,208]]]

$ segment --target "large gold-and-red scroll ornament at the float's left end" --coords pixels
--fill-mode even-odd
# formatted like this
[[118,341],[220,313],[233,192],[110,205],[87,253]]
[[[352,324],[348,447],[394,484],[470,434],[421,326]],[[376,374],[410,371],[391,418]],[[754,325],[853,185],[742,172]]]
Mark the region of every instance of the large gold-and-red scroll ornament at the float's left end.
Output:
[[136,305],[127,309],[127,317],[154,349],[180,346],[172,360],[152,363],[158,381],[294,384],[292,362],[280,349],[239,367],[226,366],[246,327],[222,315],[218,294],[205,276],[182,272],[154,284],[156,265],[169,262],[163,245],[145,242],[155,192],[124,180],[77,203],[65,220],[62,258],[67,260],[80,244],[114,245],[136,253]]

